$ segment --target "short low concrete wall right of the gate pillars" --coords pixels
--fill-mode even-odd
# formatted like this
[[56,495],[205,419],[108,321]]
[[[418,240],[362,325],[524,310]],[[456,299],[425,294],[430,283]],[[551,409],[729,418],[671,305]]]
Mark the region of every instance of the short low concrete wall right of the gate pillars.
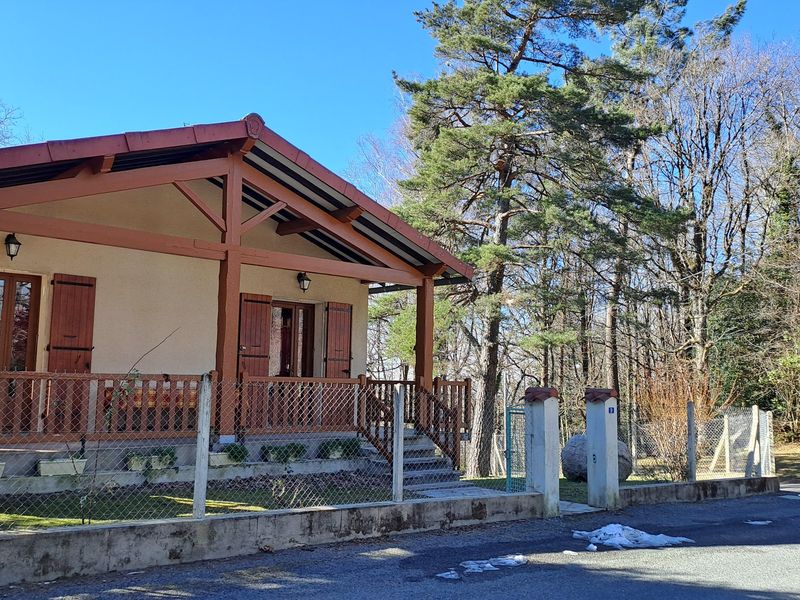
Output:
[[777,477],[741,477],[623,486],[619,489],[619,496],[622,506],[625,507],[662,502],[700,502],[701,500],[744,498],[778,491],[780,491],[780,483]]

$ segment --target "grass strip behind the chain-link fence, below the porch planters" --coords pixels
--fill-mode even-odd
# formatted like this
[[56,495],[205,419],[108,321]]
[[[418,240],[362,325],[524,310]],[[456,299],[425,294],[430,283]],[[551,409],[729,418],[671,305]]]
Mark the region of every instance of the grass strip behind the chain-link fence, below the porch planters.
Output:
[[[237,489],[211,487],[206,514],[251,512],[299,506],[325,506],[391,499],[386,487],[319,486],[277,489]],[[81,516],[91,514],[91,522],[111,523],[142,519],[190,517],[193,490],[189,486],[172,489],[120,488],[98,492],[91,511],[81,505],[83,492],[63,492],[40,496],[0,497],[0,530],[80,525]],[[87,503],[84,502],[84,506]]]

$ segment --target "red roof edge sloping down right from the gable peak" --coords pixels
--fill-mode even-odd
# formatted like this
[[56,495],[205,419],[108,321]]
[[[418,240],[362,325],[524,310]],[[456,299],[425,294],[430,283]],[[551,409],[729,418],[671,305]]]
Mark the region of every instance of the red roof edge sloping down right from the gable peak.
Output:
[[467,279],[472,279],[475,273],[475,268],[472,265],[458,260],[431,238],[421,234],[392,211],[375,202],[375,200],[367,196],[352,183],[342,179],[268,127],[264,127],[260,139],[267,146],[279,154],[282,154],[298,167],[305,169],[309,174],[322,181],[325,185],[333,188],[344,197],[363,208],[366,212],[372,214],[375,218],[392,227],[397,233],[408,238],[420,248],[423,248],[428,254],[431,254],[444,264],[452,267]]

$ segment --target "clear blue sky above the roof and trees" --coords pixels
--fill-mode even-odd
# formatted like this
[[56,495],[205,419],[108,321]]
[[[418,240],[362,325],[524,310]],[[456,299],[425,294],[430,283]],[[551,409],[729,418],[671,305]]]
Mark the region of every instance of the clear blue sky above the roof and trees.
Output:
[[[733,0],[690,0],[689,21]],[[31,141],[258,112],[343,173],[397,117],[392,71],[435,72],[412,12],[425,0],[140,0],[3,6],[0,100]],[[750,0],[740,33],[796,40],[800,0]]]

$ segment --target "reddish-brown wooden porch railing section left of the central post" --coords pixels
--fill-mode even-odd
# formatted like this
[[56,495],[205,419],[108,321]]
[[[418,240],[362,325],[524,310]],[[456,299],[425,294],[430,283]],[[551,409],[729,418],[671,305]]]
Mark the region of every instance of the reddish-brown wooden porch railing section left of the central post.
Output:
[[0,372],[0,437],[49,442],[192,436],[200,379]]

